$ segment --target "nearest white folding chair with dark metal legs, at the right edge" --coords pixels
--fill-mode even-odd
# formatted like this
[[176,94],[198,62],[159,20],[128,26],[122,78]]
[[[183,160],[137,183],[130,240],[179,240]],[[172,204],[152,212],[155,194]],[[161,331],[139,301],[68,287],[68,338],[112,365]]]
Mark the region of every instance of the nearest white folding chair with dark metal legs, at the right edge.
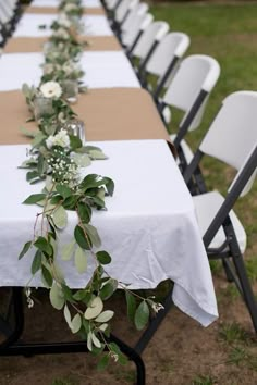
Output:
[[237,171],[225,198],[217,190],[193,198],[207,253],[210,259],[222,260],[227,277],[240,289],[257,333],[257,303],[243,261],[246,234],[232,210],[237,198],[250,190],[257,173],[256,122],[257,92],[238,91],[227,97],[184,178],[187,184],[192,178],[197,183],[195,173],[205,154]]

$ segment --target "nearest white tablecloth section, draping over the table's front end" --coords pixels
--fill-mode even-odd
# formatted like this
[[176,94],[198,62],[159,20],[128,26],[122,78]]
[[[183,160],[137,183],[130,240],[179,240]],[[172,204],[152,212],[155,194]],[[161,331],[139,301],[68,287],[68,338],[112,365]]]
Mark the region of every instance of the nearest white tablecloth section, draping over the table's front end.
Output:
[[[112,256],[107,271],[131,288],[154,288],[163,280],[174,281],[173,300],[178,307],[207,326],[218,316],[208,259],[195,218],[192,197],[164,140],[95,142],[110,157],[95,161],[85,174],[112,177],[114,196],[107,198],[107,211],[94,211],[102,248]],[[30,250],[17,256],[32,239],[40,208],[22,204],[42,184],[29,185],[17,165],[28,146],[0,147],[0,286],[25,286],[30,278]],[[59,237],[61,245],[73,237],[76,214]],[[60,254],[58,256],[60,259]],[[85,287],[94,269],[78,274],[73,261],[61,261],[66,283]],[[36,276],[30,286],[42,286]]]

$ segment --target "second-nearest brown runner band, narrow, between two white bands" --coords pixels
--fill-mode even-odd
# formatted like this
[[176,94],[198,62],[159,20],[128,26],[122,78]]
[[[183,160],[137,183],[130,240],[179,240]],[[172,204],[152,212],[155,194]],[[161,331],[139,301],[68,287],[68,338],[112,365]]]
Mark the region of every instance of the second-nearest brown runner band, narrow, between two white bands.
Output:
[[[7,42],[3,52],[41,52],[44,44],[48,40],[48,37],[14,37]],[[88,42],[85,47],[86,51],[120,51],[122,49],[114,36],[82,36],[81,40]]]

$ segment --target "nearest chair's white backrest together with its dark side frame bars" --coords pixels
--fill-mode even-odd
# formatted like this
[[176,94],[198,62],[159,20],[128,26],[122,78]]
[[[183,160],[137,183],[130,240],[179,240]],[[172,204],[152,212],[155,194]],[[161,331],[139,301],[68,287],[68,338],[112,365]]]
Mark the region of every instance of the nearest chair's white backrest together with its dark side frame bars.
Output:
[[227,197],[203,237],[208,247],[237,198],[246,195],[257,174],[257,92],[237,91],[223,101],[192,162],[184,172],[188,184],[203,156],[209,154],[237,170]]

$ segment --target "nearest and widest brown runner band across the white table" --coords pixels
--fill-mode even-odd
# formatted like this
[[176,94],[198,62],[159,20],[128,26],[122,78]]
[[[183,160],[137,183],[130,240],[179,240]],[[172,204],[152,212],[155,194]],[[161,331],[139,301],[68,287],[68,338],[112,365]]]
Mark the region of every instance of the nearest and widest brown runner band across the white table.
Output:
[[[84,121],[87,140],[170,140],[150,95],[138,88],[93,89],[81,95],[73,110]],[[0,145],[27,144],[19,127],[29,112],[21,91],[0,92]]]

